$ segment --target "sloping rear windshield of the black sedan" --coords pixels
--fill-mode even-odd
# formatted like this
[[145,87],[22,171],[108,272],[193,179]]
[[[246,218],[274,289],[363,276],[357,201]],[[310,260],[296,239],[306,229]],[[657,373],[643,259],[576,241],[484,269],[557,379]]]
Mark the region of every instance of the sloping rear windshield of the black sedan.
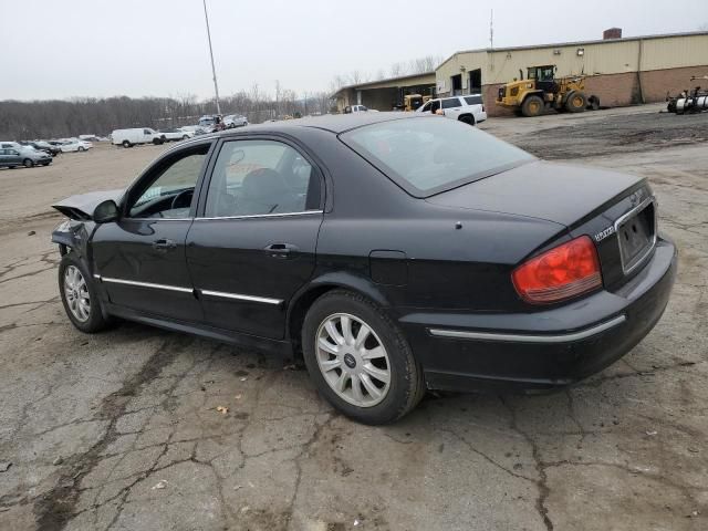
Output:
[[416,197],[534,160],[477,127],[441,116],[382,122],[344,133],[341,138]]

